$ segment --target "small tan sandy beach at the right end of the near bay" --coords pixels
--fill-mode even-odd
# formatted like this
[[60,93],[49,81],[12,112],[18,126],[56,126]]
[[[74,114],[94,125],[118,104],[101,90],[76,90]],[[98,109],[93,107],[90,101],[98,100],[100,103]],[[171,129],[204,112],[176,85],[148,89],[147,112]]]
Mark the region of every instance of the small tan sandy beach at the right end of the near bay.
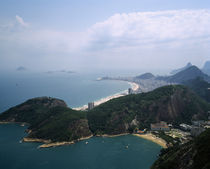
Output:
[[159,144],[161,147],[163,148],[167,148],[167,143],[165,140],[159,138],[159,137],[156,137],[155,135],[149,133],[149,134],[133,134],[134,136],[137,136],[137,137],[141,137],[143,139],[147,139],[147,140],[150,140],[156,144]]

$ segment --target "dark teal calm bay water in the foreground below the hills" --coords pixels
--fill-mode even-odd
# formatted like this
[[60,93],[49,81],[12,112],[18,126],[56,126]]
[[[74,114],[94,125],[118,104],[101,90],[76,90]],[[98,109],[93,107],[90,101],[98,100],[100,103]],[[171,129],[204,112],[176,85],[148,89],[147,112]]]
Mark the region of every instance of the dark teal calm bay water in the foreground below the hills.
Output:
[[19,143],[24,129],[15,124],[0,125],[1,169],[149,169],[161,149],[132,135],[93,137],[88,144],[81,141],[37,149],[38,143]]

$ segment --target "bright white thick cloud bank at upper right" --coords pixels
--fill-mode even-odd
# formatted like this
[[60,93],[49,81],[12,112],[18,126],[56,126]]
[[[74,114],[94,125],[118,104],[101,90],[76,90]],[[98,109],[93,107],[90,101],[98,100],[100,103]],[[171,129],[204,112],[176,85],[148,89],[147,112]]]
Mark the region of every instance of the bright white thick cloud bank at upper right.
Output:
[[210,10],[171,10],[115,14],[89,29],[90,46],[159,45],[210,37]]

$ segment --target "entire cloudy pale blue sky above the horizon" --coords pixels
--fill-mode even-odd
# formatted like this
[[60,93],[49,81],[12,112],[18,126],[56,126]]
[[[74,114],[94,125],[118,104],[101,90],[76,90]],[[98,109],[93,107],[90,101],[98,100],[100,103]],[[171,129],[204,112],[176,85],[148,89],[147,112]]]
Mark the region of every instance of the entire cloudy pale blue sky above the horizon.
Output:
[[207,60],[209,0],[0,0],[0,71],[156,71]]

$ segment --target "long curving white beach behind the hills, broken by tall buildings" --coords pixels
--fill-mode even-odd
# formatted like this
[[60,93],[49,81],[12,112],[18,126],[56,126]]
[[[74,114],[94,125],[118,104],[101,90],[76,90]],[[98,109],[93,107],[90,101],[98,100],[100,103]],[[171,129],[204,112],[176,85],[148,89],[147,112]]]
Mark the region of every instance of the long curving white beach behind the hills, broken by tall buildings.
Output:
[[[131,88],[134,92],[139,90],[139,88],[140,88],[139,84],[137,84],[135,82],[128,82],[128,81],[126,81],[126,82],[131,86]],[[119,93],[116,93],[116,94],[113,94],[113,95],[110,95],[110,96],[107,96],[107,97],[104,97],[104,98],[94,101],[94,106],[98,106],[102,103],[105,103],[105,102],[111,100],[111,99],[119,98],[119,97],[126,96],[126,95],[128,95],[127,90],[121,91]],[[76,107],[76,108],[72,108],[72,109],[84,111],[84,110],[88,109],[88,105],[83,105],[81,107]]]

